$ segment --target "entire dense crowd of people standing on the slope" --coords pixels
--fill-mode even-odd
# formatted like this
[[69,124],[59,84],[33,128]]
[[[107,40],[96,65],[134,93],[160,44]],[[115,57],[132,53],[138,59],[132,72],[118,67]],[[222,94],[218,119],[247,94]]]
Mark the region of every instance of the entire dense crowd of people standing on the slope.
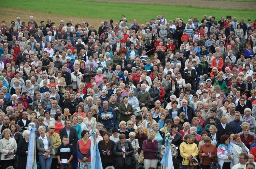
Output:
[[90,131],[103,168],[156,169],[166,138],[175,169],[255,168],[256,19],[23,19],[0,27],[2,169],[26,168],[31,123],[41,169],[90,169]]

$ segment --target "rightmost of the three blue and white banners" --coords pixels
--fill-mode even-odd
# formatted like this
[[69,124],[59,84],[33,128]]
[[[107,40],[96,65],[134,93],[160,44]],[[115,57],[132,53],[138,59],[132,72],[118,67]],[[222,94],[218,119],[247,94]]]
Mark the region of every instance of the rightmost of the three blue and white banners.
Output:
[[172,163],[172,152],[171,152],[171,141],[170,139],[165,139],[165,155],[163,155],[161,164],[163,169],[174,169]]

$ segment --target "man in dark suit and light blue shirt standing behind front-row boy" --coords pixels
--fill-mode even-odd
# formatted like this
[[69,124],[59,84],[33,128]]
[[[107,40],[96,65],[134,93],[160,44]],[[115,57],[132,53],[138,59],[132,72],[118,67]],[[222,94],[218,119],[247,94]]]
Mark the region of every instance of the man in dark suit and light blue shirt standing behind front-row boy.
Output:
[[76,143],[78,141],[76,129],[73,127],[71,128],[70,120],[66,120],[64,124],[65,124],[65,127],[59,131],[60,139],[62,140],[63,136],[65,136],[65,135],[68,136],[69,144],[72,145],[74,147],[74,149],[76,150]]

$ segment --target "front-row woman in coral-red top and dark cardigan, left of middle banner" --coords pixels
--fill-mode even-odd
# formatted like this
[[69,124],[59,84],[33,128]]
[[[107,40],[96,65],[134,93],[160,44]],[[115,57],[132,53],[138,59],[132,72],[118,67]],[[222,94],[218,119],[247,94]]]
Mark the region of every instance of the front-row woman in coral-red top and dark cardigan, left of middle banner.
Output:
[[91,165],[91,151],[90,151],[91,140],[89,139],[89,132],[83,130],[81,132],[81,139],[78,140],[76,144],[76,150],[78,153],[78,160],[80,162],[85,162],[89,168]]

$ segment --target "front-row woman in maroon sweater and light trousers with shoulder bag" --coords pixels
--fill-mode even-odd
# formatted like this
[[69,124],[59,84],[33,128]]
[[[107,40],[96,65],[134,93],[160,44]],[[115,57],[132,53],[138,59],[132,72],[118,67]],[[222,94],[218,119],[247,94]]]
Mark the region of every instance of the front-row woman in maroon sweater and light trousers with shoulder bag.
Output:
[[144,152],[144,168],[157,167],[158,142],[155,140],[155,133],[148,134],[148,138],[144,140],[142,150]]

